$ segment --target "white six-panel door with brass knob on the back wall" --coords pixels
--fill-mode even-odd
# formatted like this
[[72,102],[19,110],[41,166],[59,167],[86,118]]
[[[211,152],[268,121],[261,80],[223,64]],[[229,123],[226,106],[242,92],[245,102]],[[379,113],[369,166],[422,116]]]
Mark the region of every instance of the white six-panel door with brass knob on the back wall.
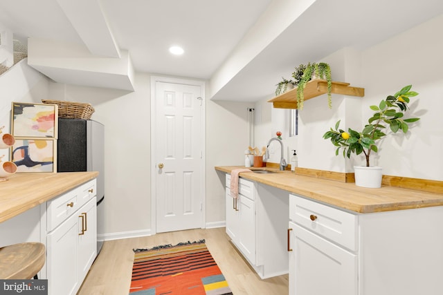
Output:
[[202,225],[201,86],[156,82],[156,231]]

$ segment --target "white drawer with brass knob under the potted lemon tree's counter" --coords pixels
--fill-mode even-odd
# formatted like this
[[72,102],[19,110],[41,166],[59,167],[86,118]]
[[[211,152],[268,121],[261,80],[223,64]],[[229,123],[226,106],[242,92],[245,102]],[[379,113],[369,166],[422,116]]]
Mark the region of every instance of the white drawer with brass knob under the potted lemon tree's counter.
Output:
[[291,194],[289,218],[338,245],[352,251],[357,249],[357,216],[354,214]]

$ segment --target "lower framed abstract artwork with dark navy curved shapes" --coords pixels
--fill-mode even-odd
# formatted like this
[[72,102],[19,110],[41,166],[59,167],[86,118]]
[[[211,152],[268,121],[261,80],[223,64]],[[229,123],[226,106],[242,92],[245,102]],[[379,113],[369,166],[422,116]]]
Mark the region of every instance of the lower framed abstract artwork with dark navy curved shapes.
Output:
[[56,140],[16,139],[11,149],[11,161],[17,165],[17,173],[55,173],[56,149]]

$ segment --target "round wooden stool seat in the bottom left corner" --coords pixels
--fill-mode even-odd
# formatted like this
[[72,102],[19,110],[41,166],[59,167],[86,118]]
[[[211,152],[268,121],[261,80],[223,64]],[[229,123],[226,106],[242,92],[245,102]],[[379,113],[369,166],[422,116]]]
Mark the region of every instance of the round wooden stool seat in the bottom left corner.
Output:
[[40,242],[22,242],[0,248],[0,279],[37,278],[45,257],[45,247]]

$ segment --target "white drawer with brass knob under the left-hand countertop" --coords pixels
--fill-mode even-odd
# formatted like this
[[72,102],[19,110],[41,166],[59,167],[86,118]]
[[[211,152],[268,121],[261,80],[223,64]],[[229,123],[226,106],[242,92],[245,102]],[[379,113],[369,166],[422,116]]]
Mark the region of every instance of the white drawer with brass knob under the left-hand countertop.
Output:
[[80,204],[79,192],[80,190],[77,187],[60,197],[46,202],[47,231],[55,229],[55,227],[82,206]]

